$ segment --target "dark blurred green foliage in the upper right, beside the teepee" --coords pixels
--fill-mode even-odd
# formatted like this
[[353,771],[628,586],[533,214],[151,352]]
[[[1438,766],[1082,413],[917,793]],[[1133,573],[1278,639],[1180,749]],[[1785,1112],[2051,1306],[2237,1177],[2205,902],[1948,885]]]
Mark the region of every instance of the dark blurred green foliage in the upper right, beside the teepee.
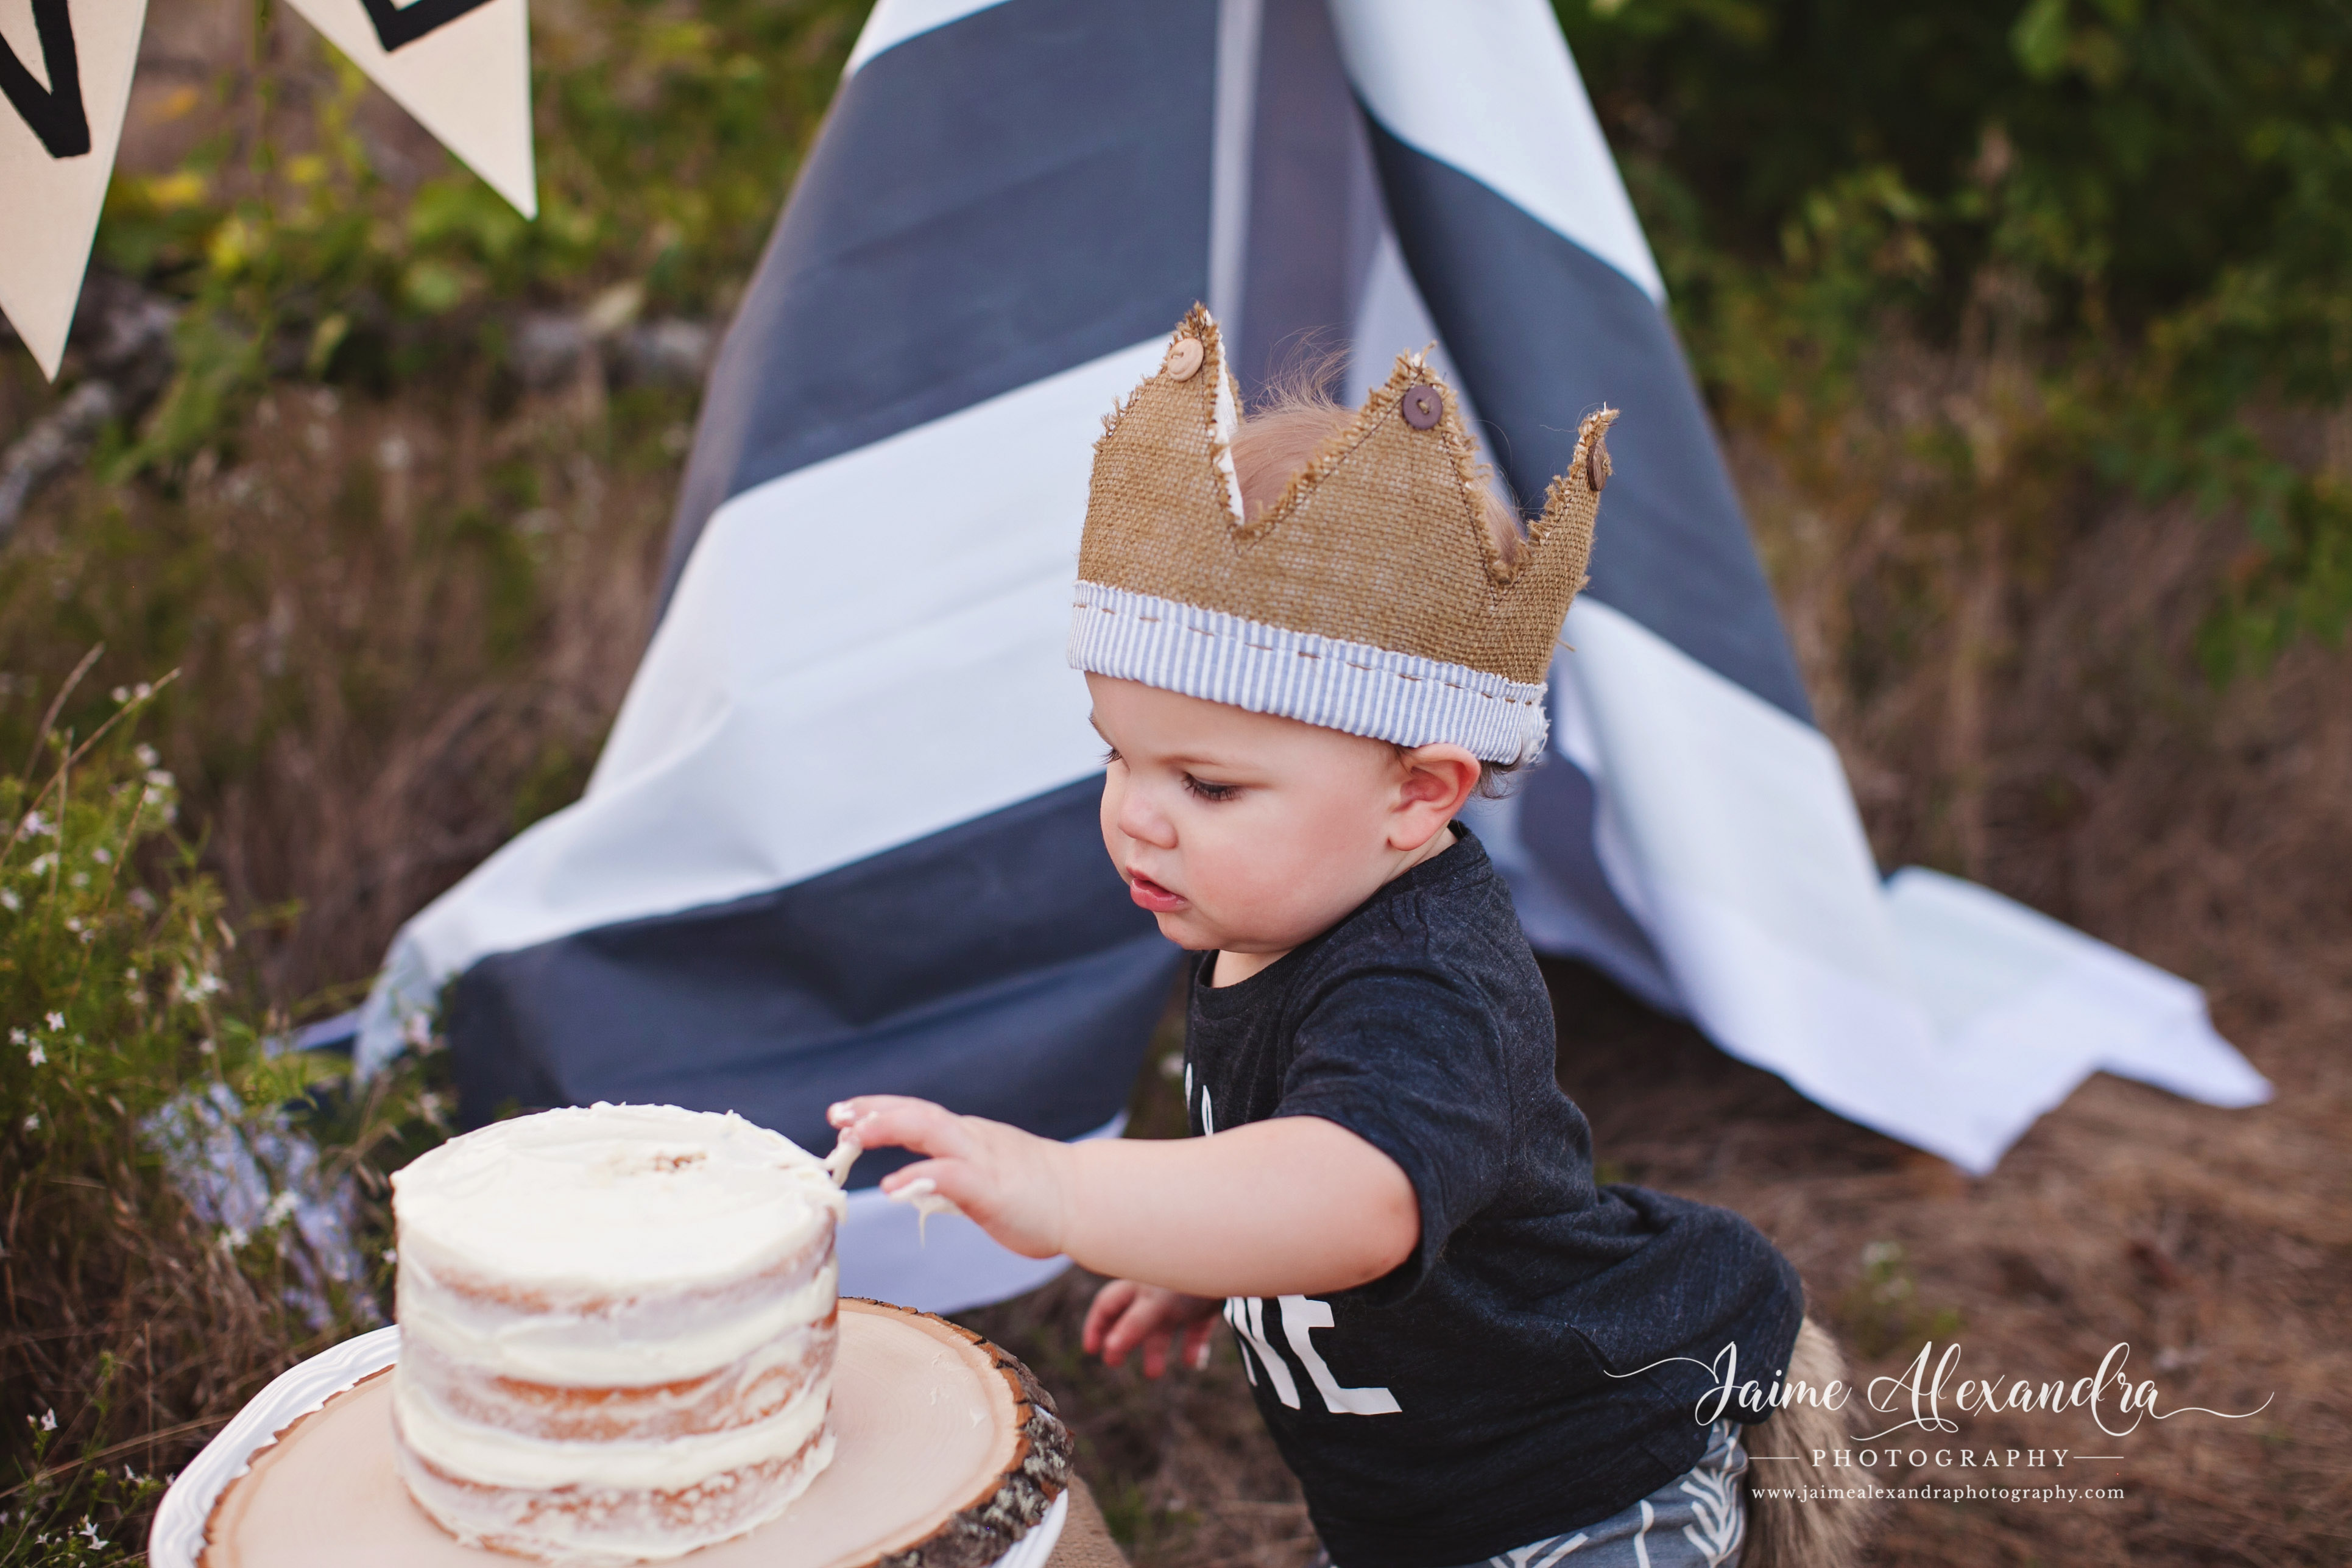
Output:
[[2352,480],[2281,428],[2352,397],[2352,7],[1559,14],[1726,411],[1832,418],[1891,324],[1962,353],[2002,339],[2034,371],[2049,465],[2244,517],[2216,675],[2340,635]]

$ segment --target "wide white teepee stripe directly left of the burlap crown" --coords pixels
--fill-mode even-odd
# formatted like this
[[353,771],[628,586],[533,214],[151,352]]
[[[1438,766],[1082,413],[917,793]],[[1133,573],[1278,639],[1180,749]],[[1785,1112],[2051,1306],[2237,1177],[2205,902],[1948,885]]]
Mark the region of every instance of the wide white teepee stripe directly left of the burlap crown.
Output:
[[586,797],[416,914],[360,1060],[489,952],[802,882],[1094,773],[1070,571],[1155,336],[727,501]]

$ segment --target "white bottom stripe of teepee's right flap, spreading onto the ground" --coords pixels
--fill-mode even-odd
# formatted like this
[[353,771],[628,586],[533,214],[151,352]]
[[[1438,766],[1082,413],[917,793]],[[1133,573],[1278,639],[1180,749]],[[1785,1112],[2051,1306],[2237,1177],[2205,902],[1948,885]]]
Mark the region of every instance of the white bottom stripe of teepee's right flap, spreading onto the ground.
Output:
[[1689,1016],[1865,1126],[1990,1171],[2093,1070],[2267,1095],[2204,994],[1997,893],[1879,886],[1837,752],[1656,632],[1578,599],[1559,748]]

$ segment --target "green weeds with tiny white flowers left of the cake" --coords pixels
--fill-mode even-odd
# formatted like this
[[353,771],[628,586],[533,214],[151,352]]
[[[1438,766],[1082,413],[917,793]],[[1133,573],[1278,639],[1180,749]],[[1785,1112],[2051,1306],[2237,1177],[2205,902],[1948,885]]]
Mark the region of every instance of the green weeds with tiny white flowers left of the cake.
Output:
[[[132,738],[155,698],[115,691],[94,733],[52,729],[38,766],[0,773],[9,1568],[141,1559],[160,1462],[303,1347],[379,1316],[383,1272],[322,1276],[301,1201],[353,1190],[381,1248],[381,1171],[440,1135],[440,1058],[355,1093],[346,1063],[273,1051],[238,1004],[235,933],[174,825],[179,785]],[[158,1126],[191,1103],[223,1110],[219,1138],[303,1152],[299,1171],[263,1164],[249,1227],[207,1225],[167,1175]]]

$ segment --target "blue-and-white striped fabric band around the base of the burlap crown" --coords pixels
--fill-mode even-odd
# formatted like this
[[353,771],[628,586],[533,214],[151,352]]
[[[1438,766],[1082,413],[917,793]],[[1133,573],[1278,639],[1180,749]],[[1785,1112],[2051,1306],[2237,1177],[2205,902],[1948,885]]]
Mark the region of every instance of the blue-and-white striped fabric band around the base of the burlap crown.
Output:
[[1541,684],[1105,583],[1077,583],[1070,665],[1397,745],[1451,741],[1486,762],[1526,762],[1550,731]]

